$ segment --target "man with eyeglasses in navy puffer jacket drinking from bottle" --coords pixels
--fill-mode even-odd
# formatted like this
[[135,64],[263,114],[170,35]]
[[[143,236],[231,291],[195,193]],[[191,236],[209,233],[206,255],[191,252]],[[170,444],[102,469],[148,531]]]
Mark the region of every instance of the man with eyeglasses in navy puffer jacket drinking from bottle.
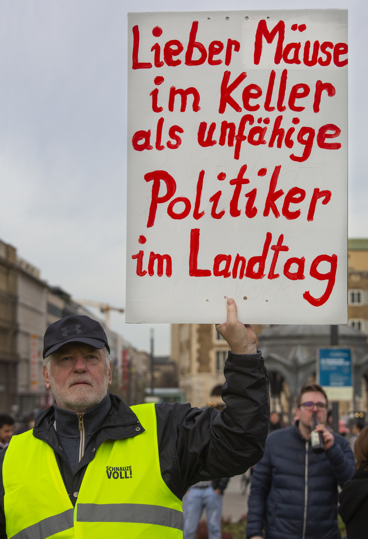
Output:
[[[254,467],[248,501],[247,539],[341,539],[337,488],[351,478],[355,461],[348,441],[330,432],[328,400],[318,384],[304,384],[296,401],[296,422],[269,434],[265,454]],[[310,445],[313,414],[324,452]]]

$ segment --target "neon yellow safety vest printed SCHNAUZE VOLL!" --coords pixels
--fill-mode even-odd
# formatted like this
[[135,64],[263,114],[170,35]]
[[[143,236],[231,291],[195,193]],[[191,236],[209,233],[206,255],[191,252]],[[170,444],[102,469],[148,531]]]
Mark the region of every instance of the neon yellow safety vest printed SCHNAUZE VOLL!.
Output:
[[132,406],[145,431],[107,440],[89,462],[73,507],[54,451],[32,431],[3,464],[6,533],[15,539],[180,539],[182,502],[162,479],[154,404]]

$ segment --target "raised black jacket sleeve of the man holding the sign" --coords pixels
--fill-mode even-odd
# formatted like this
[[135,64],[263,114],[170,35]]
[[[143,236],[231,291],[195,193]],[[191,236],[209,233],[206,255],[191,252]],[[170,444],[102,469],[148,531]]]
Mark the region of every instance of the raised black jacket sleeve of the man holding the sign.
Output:
[[226,405],[221,412],[190,404],[156,404],[162,477],[180,499],[190,485],[244,473],[262,458],[269,391],[261,353],[230,352],[224,374]]

